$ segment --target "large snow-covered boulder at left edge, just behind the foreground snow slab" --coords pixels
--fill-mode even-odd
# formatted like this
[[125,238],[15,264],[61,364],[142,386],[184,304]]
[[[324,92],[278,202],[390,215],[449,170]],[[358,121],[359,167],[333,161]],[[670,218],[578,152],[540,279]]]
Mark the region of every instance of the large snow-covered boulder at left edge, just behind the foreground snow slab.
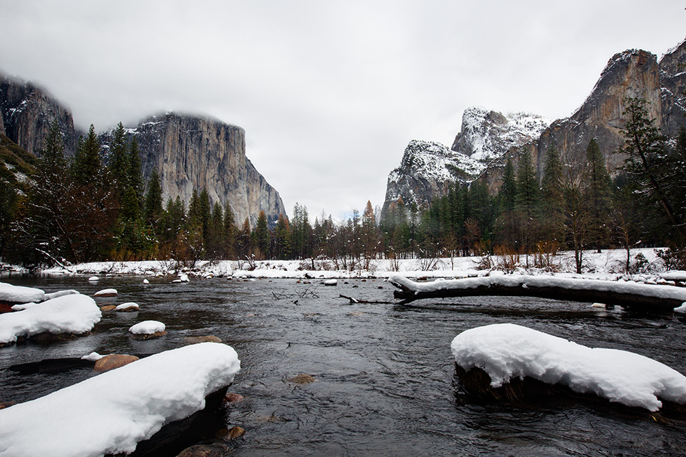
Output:
[[100,321],[102,313],[87,295],[64,295],[13,313],[0,314],[0,345],[16,342],[18,337],[82,335]]

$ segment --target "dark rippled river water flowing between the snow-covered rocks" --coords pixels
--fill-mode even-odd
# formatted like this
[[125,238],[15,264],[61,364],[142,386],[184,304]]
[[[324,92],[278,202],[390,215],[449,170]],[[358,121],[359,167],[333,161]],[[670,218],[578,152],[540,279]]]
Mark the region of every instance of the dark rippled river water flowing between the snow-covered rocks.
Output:
[[[41,358],[99,353],[157,353],[183,337],[216,335],[234,347],[241,372],[229,391],[246,400],[228,426],[246,435],[235,455],[337,456],[654,456],[686,454],[686,420],[655,421],[606,402],[501,405],[465,395],[454,376],[450,342],[489,323],[517,323],[595,347],[640,353],[686,373],[686,323],[671,316],[629,316],[589,304],[483,297],[394,304],[349,304],[339,294],[391,300],[384,281],[339,280],[326,287],[295,280],[195,279],[169,284],[141,277],[3,276],[46,291],[92,294],[116,288],[114,303],[138,313],[105,313],[97,331],[75,342],[0,349],[0,401],[25,401],[92,376],[20,376],[6,367]],[[357,286],[357,287],[355,287]],[[286,297],[290,295],[290,297]],[[278,298],[278,299],[277,299]],[[297,300],[297,304],[293,303]],[[461,303],[452,306],[449,303]],[[137,342],[130,325],[154,319],[169,334]],[[298,385],[297,374],[316,379]],[[170,380],[172,381],[172,380]]]

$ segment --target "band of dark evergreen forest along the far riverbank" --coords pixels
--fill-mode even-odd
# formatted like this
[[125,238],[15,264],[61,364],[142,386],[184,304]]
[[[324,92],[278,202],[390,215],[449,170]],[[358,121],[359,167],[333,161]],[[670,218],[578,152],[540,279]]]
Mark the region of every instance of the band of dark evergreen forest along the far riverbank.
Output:
[[492,253],[547,267],[565,249],[581,272],[584,251],[625,248],[628,267],[631,248],[641,244],[669,246],[665,260],[684,267],[686,132],[667,139],[647,117],[645,101],[628,99],[627,106],[626,141],[616,151],[626,161],[614,179],[595,140],[585,160],[549,148],[540,181],[524,149],[516,166],[507,160],[495,195],[477,180],[455,185],[426,209],[398,199],[378,225],[371,202],[361,216],[353,211],[335,222],[321,213],[314,223],[296,203],[290,220],[281,214],[270,226],[262,211],[255,227],[247,218],[239,227],[230,206],[211,205],[206,189],[193,192],[188,208],[179,197],[162,202],[158,174],[153,170],[144,183],[137,141],[127,139],[121,123],[106,165],[92,126],[67,159],[55,124],[29,191],[10,192],[12,207],[0,213],[0,255],[25,265],[300,259],[337,269],[419,258],[428,269],[432,259]]

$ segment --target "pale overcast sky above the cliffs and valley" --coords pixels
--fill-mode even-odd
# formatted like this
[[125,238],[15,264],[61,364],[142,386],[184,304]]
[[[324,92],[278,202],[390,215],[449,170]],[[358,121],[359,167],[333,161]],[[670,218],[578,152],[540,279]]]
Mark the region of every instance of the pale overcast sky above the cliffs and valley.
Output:
[[675,0],[0,0],[0,70],[86,129],[160,111],[246,130],[311,220],[383,204],[412,139],[450,146],[468,106],[564,118],[616,52],[686,34]]

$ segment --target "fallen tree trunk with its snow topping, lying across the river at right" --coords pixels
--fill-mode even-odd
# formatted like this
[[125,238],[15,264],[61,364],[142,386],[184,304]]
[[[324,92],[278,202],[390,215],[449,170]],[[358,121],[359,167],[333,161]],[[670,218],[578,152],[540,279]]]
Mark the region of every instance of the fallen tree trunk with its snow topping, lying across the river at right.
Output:
[[430,283],[417,283],[403,276],[391,276],[388,282],[400,289],[393,291],[393,297],[401,299],[401,304],[426,298],[498,295],[601,302],[633,311],[671,313],[675,307],[686,302],[686,289],[675,286],[554,276],[483,276]]

